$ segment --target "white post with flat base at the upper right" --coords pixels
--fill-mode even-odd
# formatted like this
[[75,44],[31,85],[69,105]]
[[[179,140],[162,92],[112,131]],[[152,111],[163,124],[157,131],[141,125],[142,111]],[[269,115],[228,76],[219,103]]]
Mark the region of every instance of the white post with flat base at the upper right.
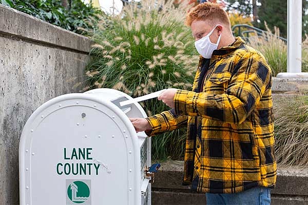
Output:
[[277,77],[308,77],[301,72],[302,1],[287,0],[287,73]]

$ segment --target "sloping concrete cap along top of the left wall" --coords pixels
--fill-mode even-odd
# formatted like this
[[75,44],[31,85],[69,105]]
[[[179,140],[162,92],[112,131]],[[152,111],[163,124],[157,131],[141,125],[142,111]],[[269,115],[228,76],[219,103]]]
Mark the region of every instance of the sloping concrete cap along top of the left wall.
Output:
[[31,43],[89,53],[91,40],[0,4],[0,34],[12,35]]

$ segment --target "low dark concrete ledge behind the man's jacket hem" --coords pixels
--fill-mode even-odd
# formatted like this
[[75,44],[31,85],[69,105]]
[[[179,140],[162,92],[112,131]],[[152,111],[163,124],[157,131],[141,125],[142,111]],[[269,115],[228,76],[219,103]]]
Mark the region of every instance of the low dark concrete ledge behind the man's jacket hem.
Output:
[[[161,163],[152,184],[152,204],[205,204],[205,194],[182,186],[183,161]],[[308,204],[308,169],[278,168],[272,204]]]

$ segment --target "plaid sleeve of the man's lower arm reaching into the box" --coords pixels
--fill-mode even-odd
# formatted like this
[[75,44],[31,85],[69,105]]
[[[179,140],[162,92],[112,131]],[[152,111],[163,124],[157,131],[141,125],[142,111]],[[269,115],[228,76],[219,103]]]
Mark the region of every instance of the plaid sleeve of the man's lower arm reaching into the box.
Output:
[[145,133],[148,136],[157,135],[166,131],[172,131],[187,125],[188,116],[177,115],[174,109],[164,111],[160,114],[145,118],[148,120],[152,130]]

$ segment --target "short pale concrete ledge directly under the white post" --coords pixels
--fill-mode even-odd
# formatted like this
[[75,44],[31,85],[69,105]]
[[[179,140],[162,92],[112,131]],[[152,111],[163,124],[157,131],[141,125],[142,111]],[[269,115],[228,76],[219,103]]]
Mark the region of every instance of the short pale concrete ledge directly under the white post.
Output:
[[307,91],[308,78],[278,78],[273,77],[273,93],[290,92],[290,91]]

